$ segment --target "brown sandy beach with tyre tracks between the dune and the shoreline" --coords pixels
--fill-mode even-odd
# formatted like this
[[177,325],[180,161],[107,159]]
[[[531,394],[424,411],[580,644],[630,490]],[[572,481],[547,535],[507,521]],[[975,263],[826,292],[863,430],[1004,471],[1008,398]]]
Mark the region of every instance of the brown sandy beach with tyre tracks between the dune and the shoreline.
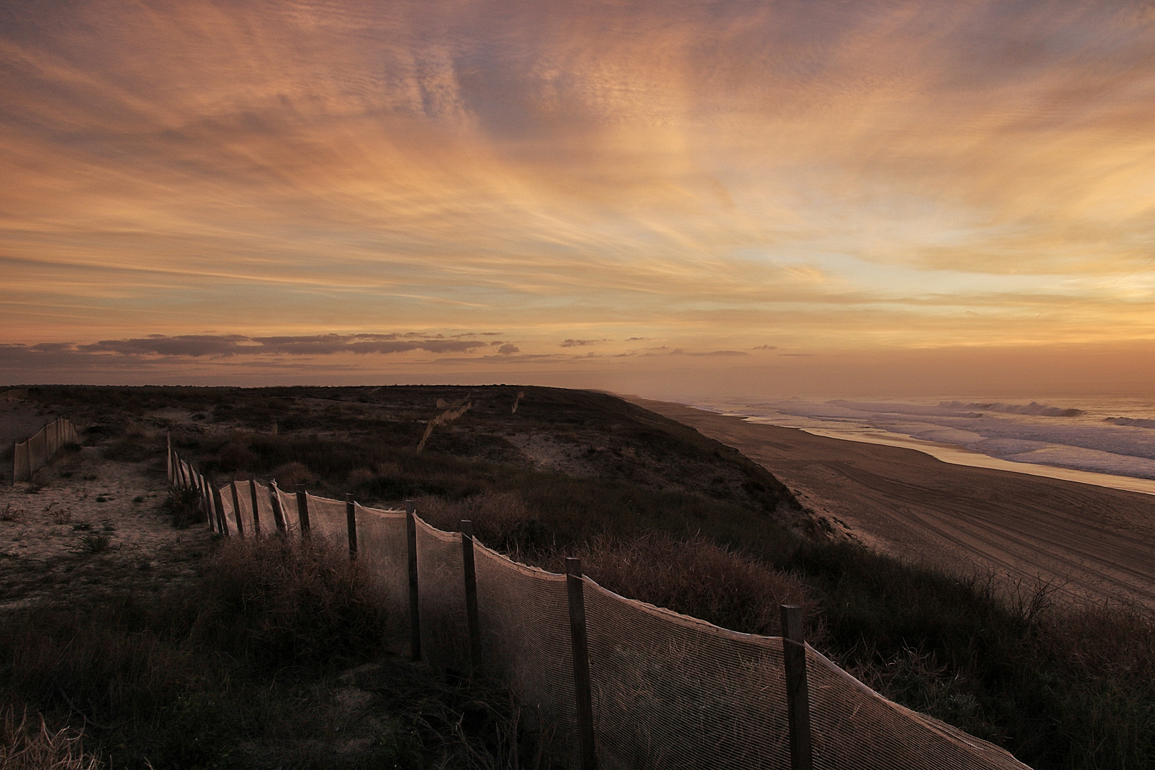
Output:
[[960,574],[1042,578],[1075,597],[1155,607],[1155,496],[944,463],[681,404],[629,401],[763,465],[863,543]]

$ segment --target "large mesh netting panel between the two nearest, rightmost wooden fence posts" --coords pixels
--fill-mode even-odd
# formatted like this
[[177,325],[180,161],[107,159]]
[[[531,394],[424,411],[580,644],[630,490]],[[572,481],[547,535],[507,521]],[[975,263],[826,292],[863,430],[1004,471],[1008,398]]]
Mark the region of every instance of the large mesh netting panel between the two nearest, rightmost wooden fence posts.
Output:
[[625,599],[586,578],[599,765],[790,768],[782,641]]

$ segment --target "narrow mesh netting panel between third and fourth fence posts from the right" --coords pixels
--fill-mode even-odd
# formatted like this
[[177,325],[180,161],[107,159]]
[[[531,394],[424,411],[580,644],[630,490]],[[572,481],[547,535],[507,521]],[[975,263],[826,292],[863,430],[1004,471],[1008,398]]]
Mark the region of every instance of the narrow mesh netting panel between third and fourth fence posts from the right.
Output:
[[461,536],[417,519],[422,658],[434,668],[469,671],[469,621]]

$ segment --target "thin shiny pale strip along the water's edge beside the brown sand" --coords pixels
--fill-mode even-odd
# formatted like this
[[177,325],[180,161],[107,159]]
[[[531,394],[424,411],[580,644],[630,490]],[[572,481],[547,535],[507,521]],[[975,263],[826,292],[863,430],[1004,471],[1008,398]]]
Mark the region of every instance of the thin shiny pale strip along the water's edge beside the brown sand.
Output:
[[[713,410],[711,410],[713,411]],[[1036,465],[1035,463],[1012,463],[1009,459],[999,459],[978,451],[963,449],[949,443],[937,443],[923,441],[902,433],[844,433],[841,431],[828,431],[826,428],[799,428],[793,425],[778,425],[769,417],[750,417],[737,412],[724,412],[729,417],[740,417],[747,423],[761,425],[774,425],[777,427],[793,427],[811,435],[826,436],[827,439],[841,439],[843,441],[857,441],[858,443],[877,443],[886,447],[902,447],[915,449],[930,455],[944,463],[952,465],[969,465],[970,468],[990,468],[997,471],[1011,471],[1012,473],[1026,473],[1027,476],[1042,476],[1049,479],[1061,479],[1064,481],[1079,481],[1080,484],[1093,484],[1095,486],[1111,489],[1124,489],[1126,492],[1140,492],[1142,494],[1155,495],[1155,479],[1139,479],[1133,476],[1115,476],[1113,473],[1096,473],[1094,471],[1079,471],[1073,468],[1057,468],[1055,465]]]

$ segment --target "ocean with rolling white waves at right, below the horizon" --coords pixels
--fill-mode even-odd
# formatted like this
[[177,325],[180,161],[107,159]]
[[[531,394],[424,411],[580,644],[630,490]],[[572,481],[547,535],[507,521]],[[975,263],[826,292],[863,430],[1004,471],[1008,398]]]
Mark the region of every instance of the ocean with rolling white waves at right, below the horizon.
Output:
[[959,465],[1155,494],[1150,398],[710,398],[691,406]]

